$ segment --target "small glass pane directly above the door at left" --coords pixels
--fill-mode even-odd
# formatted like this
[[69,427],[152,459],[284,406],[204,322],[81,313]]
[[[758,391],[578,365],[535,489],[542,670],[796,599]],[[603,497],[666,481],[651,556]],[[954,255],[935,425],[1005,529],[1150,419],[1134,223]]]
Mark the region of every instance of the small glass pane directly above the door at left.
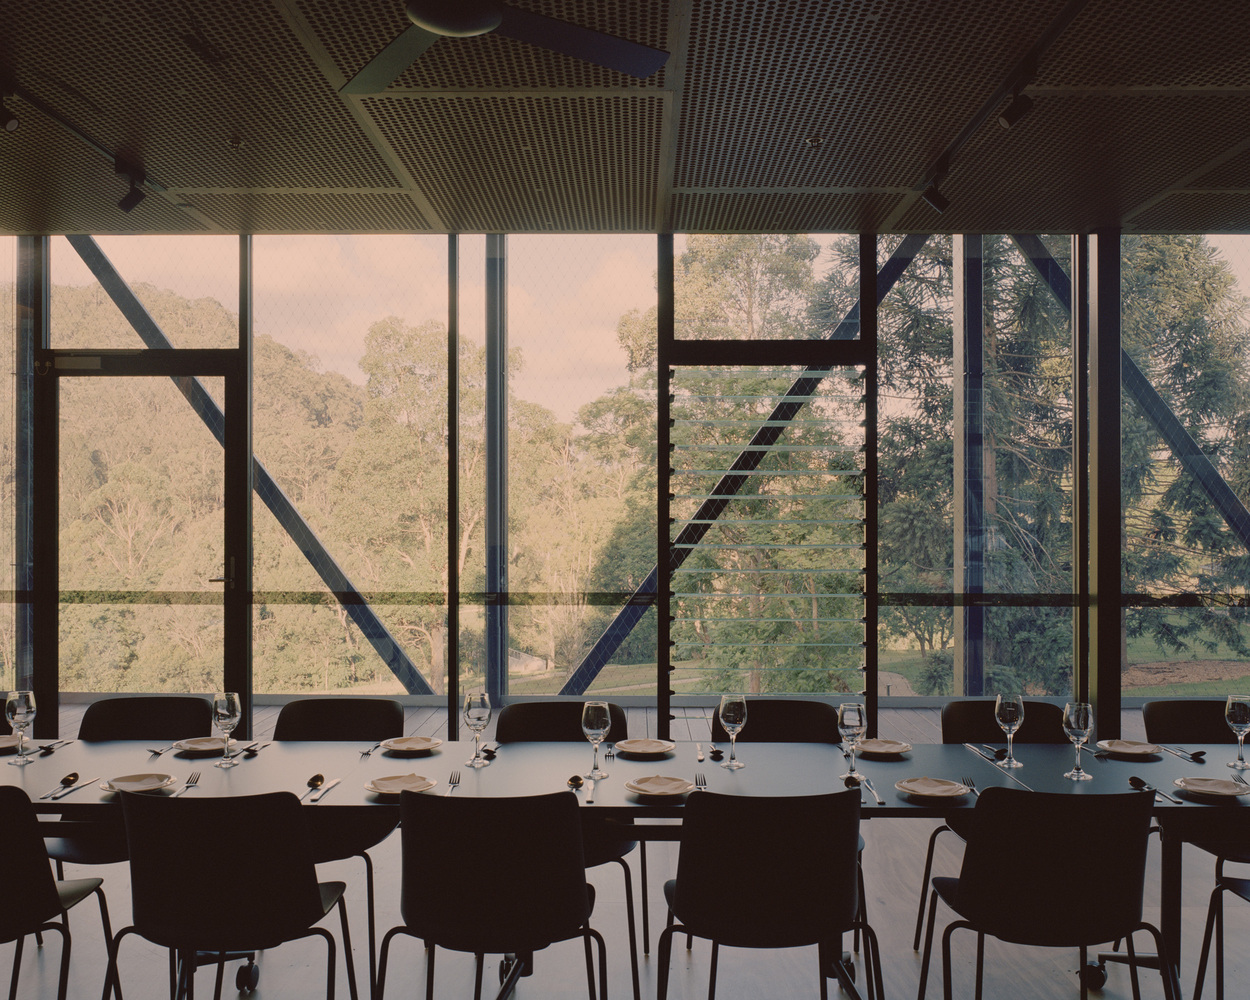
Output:
[[[238,236],[94,238],[174,348],[239,346]],[[51,346],[145,344],[64,236],[51,241]]]

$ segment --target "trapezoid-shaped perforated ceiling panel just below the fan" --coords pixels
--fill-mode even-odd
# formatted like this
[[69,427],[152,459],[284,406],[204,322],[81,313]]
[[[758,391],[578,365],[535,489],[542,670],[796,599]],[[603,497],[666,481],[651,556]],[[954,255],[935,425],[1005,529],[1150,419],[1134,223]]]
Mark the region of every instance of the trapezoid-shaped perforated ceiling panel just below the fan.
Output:
[[654,225],[660,96],[366,104],[451,229],[630,232]]

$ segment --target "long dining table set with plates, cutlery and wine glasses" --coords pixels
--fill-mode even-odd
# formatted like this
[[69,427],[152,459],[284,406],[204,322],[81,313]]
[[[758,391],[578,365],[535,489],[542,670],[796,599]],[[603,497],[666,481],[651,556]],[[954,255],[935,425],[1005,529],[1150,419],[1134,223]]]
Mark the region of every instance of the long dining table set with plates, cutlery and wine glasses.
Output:
[[[242,752],[252,746],[251,754]],[[869,779],[874,791],[860,786],[864,820],[941,818],[956,809],[974,808],[976,794],[925,798],[898,789],[898,782],[914,778],[946,779],[962,782],[971,779],[978,791],[994,785],[1025,788],[1034,791],[1065,795],[1099,795],[1131,791],[1130,778],[1144,780],[1154,791],[1155,816],[1162,835],[1161,850],[1161,911],[1160,930],[1174,965],[1180,965],[1181,919],[1181,846],[1194,836],[1210,838],[1216,831],[1246,839],[1250,831],[1250,786],[1246,796],[1206,799],[1178,788],[1178,779],[1221,778],[1234,771],[1225,766],[1236,752],[1235,746],[1188,746],[1202,754],[1199,762],[1182,759],[1159,748],[1158,752],[1096,756],[1094,746],[1082,752],[1082,762],[1091,775],[1088,781],[1064,776],[1074,761],[1074,748],[1061,744],[1016,744],[1015,758],[1022,766],[1006,770],[995,762],[1005,745],[966,746],[956,744],[918,744],[901,752],[861,755],[858,770]],[[164,750],[152,754],[151,750]],[[105,810],[116,810],[120,821],[119,796],[105,782],[122,776],[142,774],[168,775],[170,785],[161,794],[179,791],[192,771],[199,780],[182,794],[188,795],[252,795],[286,790],[302,795],[309,809],[376,810],[399,809],[395,795],[380,795],[370,785],[380,778],[416,775],[432,781],[428,795],[536,795],[569,788],[569,779],[584,775],[591,764],[591,748],[578,742],[515,742],[494,745],[488,766],[470,768],[471,741],[431,740],[431,746],[418,754],[406,754],[378,746],[339,741],[270,741],[240,744],[232,768],[214,766],[220,759],[189,755],[165,749],[151,741],[71,741],[49,754],[36,751],[24,768],[0,766],[0,782],[18,785],[30,795],[39,812],[55,814],[64,820],[101,819]],[[629,785],[648,778],[671,778],[694,784],[701,776],[709,791],[732,795],[814,795],[846,788],[841,775],[848,769],[845,750],[828,742],[742,742],[738,758],[745,766],[728,770],[711,759],[712,745],[695,742],[671,744],[662,751],[630,755],[618,751],[602,760],[609,776],[591,786],[582,781],[575,790],[588,816],[632,821],[631,836],[645,840],[680,839],[682,805],[694,790],[682,794],[641,795]],[[728,748],[721,746],[721,750]],[[704,759],[699,760],[699,755]],[[78,772],[72,790],[58,799],[40,798],[60,788],[62,776]],[[454,790],[449,784],[459,772]],[[321,776],[324,794],[314,795],[309,780]],[[329,786],[334,782],[332,786]],[[646,788],[644,782],[641,788]],[[329,788],[326,788],[329,786]],[[681,789],[681,785],[675,788]],[[880,799],[880,801],[878,801]],[[1096,831],[1084,831],[1096,836]]]

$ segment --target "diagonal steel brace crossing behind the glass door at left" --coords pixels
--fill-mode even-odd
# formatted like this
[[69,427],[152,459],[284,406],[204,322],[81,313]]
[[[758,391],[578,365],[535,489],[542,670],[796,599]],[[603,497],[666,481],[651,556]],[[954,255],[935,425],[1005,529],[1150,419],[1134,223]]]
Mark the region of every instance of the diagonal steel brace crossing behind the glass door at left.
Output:
[[[78,251],[82,261],[91,269],[101,288],[121,310],[135,332],[139,334],[144,344],[150,349],[168,350],[174,345],[165,331],[160,329],[151,318],[142,302],[130,290],[112,262],[105,256],[100,246],[90,236],[66,236],[70,245]],[[216,401],[199,381],[199,379],[175,378],[174,384],[179,391],[191,404],[191,409],[200,416],[218,442],[225,448],[225,414]],[[55,465],[55,464],[54,464]],[[335,599],[342,605],[344,611],[356,624],[361,634],[381,656],[382,662],[404,685],[409,694],[432,694],[430,685],[409,659],[400,644],[390,634],[390,630],[379,620],[372,608],[356,590],[355,584],[348,578],[334,556],[326,551],[325,545],[314,534],[300,512],[295,509],[290,498],[269,475],[269,471],[255,458],[252,458],[252,480],[256,495],[272,512],[278,522],[286,530],[291,540],[304,552],[304,558],[316,570],[322,582],[329,588]],[[55,495],[55,490],[54,490]]]

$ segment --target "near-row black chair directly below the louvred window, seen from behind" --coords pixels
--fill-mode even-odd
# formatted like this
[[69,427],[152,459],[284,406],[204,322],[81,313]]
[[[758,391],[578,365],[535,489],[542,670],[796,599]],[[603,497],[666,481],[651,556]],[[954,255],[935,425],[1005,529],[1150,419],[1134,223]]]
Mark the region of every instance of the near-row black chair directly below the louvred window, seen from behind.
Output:
[[670,921],[660,935],[659,1000],[668,996],[678,931],[711,940],[709,1000],[721,945],[816,945],[826,1000],[829,976],[860,996],[840,962],[842,934],[859,930],[869,998],[881,996],[876,935],[860,915],[859,816],[856,790],[786,798],[691,794],[682,810],[678,878],[664,886]]

